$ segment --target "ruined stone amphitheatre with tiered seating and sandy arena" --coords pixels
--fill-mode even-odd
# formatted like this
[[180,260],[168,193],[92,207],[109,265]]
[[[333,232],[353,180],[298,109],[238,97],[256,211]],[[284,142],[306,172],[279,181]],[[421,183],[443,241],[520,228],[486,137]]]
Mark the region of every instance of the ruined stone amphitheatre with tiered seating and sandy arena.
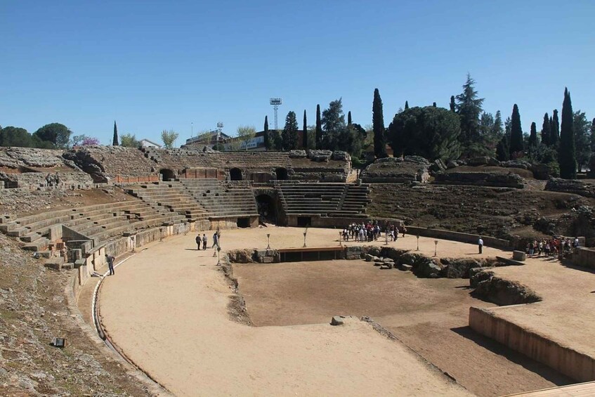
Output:
[[0,148],[0,395],[595,393],[594,192],[490,157]]

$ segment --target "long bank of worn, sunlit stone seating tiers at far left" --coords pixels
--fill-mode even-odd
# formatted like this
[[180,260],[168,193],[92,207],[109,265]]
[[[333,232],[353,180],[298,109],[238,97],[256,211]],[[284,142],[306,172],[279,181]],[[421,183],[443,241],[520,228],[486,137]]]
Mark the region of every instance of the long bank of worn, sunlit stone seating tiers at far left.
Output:
[[93,240],[103,241],[141,228],[183,221],[184,216],[141,201],[112,202],[6,219],[0,231],[19,237],[23,249],[42,251],[52,242],[51,228],[63,225]]

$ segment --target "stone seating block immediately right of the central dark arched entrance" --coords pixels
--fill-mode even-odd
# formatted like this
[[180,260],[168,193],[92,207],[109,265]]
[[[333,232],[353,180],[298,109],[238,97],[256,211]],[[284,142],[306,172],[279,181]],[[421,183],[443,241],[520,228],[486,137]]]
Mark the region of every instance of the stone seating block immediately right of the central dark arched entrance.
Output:
[[277,183],[286,214],[365,216],[368,185],[349,183]]

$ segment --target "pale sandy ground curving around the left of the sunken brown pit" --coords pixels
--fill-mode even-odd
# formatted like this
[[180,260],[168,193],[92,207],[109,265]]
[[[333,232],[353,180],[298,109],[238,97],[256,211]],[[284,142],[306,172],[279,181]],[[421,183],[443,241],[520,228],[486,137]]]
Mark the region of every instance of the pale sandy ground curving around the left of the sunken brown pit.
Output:
[[[263,247],[272,233],[271,245],[295,247],[303,243],[302,232],[223,230],[221,243],[225,249]],[[328,325],[329,318],[285,327],[230,321],[230,289],[213,251],[196,251],[194,237],[148,246],[117,268],[100,294],[112,341],[176,395],[468,394],[360,320],[342,327]],[[310,246],[336,244],[336,230],[310,229],[308,237]]]

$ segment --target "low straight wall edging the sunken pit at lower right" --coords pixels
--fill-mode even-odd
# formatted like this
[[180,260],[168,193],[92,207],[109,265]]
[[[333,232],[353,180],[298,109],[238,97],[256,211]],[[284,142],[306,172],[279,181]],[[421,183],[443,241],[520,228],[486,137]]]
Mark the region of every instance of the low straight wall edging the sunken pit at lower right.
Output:
[[511,306],[489,309],[471,307],[469,327],[578,382],[595,380],[595,360],[592,357],[568,346],[561,346],[556,341],[519,327],[497,315],[498,311],[509,307]]

